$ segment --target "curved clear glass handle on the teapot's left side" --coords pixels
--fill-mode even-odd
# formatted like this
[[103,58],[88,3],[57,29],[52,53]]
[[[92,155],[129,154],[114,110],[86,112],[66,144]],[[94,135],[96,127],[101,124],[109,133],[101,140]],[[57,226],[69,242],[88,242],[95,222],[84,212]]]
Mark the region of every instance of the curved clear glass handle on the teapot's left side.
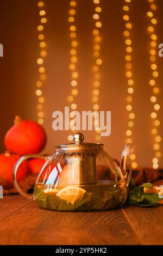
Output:
[[41,156],[41,155],[36,155],[36,154],[29,154],[29,155],[25,155],[22,156],[15,164],[14,169],[13,169],[13,173],[12,173],[12,179],[13,179],[13,183],[14,186],[16,188],[16,190],[18,191],[18,193],[20,193],[23,197],[27,197],[28,199],[34,199],[34,194],[28,194],[26,192],[24,192],[21,187],[18,185],[17,183],[17,179],[16,179],[16,173],[17,173],[17,169],[20,166],[20,164],[24,161],[27,160],[29,158],[38,158],[38,159],[43,159],[43,160],[47,160],[46,156]]

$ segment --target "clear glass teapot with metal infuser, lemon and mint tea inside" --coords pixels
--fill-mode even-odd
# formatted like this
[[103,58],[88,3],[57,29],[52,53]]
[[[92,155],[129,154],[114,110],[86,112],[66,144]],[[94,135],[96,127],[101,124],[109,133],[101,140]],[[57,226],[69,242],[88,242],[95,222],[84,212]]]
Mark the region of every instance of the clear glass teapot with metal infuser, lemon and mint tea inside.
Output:
[[[51,156],[26,155],[13,170],[14,186],[22,196],[36,200],[42,208],[56,211],[93,211],[114,209],[127,199],[131,178],[130,152],[124,147],[120,167],[103,144],[84,143],[82,133],[74,134],[74,143],[58,145]],[[37,176],[34,194],[21,190],[16,172],[21,162],[31,157],[46,160]]]

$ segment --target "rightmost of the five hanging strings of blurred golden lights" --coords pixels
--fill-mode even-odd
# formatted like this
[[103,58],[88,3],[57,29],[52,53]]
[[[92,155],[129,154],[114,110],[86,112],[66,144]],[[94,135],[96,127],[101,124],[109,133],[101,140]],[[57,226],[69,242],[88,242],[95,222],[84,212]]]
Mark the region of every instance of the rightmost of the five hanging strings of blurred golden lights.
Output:
[[154,137],[154,144],[153,149],[155,151],[155,156],[152,159],[153,169],[158,169],[159,167],[159,158],[161,157],[160,153],[160,142],[161,136],[158,133],[158,128],[160,126],[160,120],[158,117],[158,112],[160,110],[160,103],[158,103],[158,98],[156,97],[160,90],[157,84],[157,78],[159,76],[159,72],[157,71],[158,66],[156,65],[156,47],[158,46],[156,40],[157,35],[155,31],[155,25],[157,20],[154,17],[154,11],[156,10],[156,4],[154,0],[147,0],[149,3],[149,10],[147,12],[147,17],[149,18],[149,26],[148,26],[148,33],[150,34],[150,46],[149,46],[149,60],[150,60],[150,67],[152,71],[152,77],[149,80],[149,86],[152,87],[152,95],[151,95],[151,103],[153,106],[153,110],[151,113],[153,128],[152,128],[152,135]]

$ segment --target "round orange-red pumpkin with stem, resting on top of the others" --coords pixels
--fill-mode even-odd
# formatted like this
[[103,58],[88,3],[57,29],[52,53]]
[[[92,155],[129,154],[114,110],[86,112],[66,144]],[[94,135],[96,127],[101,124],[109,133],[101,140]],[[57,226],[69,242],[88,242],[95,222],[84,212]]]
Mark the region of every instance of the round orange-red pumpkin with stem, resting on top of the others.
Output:
[[4,138],[5,148],[20,156],[40,153],[46,145],[46,133],[35,121],[22,120],[16,116],[14,125]]

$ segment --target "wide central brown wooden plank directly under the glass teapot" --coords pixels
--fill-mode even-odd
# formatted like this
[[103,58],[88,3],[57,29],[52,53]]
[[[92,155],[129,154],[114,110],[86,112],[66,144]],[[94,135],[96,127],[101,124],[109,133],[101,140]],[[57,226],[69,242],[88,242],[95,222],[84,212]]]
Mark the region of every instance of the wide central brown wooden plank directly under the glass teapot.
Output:
[[30,202],[0,223],[1,245],[138,245],[122,209],[55,212]]

